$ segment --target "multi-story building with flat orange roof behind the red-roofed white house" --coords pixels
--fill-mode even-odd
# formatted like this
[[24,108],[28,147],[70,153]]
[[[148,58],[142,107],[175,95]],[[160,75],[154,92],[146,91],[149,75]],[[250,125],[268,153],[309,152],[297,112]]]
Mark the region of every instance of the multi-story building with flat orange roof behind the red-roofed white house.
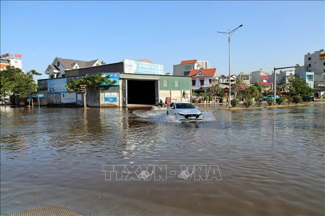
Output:
[[[201,62],[203,65],[201,65]],[[174,76],[189,76],[192,70],[199,70],[199,69],[209,69],[210,63],[209,61],[202,61],[202,60],[183,60],[180,64],[173,65],[173,75]]]

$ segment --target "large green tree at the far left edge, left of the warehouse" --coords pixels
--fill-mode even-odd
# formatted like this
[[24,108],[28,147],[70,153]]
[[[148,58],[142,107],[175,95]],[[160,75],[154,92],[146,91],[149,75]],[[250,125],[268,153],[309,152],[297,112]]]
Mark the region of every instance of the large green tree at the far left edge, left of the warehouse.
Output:
[[25,97],[28,94],[37,93],[38,85],[33,79],[33,75],[41,75],[35,70],[28,71],[26,74],[20,68],[7,66],[0,71],[1,97],[17,96]]

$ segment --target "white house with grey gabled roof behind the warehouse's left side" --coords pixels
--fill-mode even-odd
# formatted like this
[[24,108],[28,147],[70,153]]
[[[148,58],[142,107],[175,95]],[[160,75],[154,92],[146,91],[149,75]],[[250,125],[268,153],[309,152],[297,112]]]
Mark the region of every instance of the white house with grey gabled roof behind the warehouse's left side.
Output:
[[45,70],[45,74],[49,78],[60,78],[65,77],[65,71],[72,69],[79,69],[85,67],[93,67],[106,64],[104,61],[99,61],[98,59],[92,61],[82,61],[74,59],[62,59],[56,57],[52,64],[49,64]]

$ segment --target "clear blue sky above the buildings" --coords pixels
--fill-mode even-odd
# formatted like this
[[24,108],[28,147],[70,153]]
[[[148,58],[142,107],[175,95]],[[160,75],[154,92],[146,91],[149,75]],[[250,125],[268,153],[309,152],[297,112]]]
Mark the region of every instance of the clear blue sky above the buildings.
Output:
[[2,1],[0,52],[43,73],[55,57],[106,63],[147,58],[173,72],[181,60],[231,72],[303,65],[324,49],[324,1]]

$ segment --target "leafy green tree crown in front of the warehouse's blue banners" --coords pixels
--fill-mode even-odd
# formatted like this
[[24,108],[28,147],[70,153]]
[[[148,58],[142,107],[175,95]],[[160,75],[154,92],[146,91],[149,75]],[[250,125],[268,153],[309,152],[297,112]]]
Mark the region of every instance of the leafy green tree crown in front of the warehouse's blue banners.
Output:
[[102,73],[98,73],[95,75],[86,75],[86,77],[81,79],[72,79],[66,85],[66,88],[69,92],[79,92],[80,85],[87,85],[87,89],[95,89],[98,87],[102,87],[103,89],[109,89],[110,85],[113,85],[116,80],[110,80],[109,75],[103,76]]

